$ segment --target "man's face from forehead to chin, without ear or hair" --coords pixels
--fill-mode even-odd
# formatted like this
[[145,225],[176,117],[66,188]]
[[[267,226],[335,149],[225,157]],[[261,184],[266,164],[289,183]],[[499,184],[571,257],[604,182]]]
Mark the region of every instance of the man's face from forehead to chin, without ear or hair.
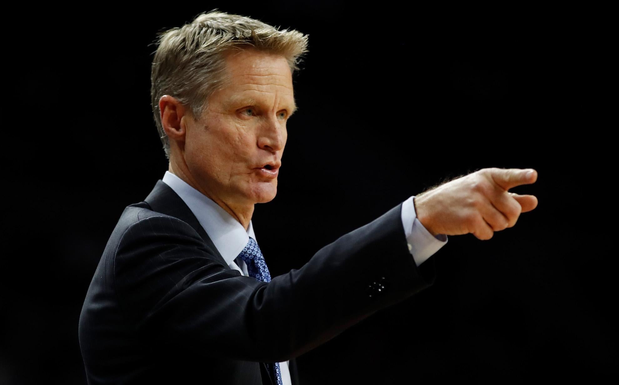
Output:
[[199,188],[230,206],[269,202],[294,112],[292,73],[284,56],[227,53],[231,84],[209,98],[202,119],[190,119],[185,161]]

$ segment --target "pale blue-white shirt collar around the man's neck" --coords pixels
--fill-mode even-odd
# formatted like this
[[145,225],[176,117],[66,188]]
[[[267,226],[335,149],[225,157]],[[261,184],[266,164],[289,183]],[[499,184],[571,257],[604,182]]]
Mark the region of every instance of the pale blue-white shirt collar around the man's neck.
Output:
[[183,199],[189,210],[196,215],[198,222],[209,235],[227,264],[234,261],[238,254],[243,251],[250,236],[256,240],[251,220],[249,220],[248,230],[245,231],[243,225],[222,209],[220,205],[189,186],[188,183],[170,171],[165,171],[163,183],[170,186]]

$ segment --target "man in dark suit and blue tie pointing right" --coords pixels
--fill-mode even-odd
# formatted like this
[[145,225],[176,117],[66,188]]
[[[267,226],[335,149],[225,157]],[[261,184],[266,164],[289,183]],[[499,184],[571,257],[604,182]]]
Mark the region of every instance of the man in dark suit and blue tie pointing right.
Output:
[[425,261],[446,236],[489,239],[537,205],[508,193],[534,170],[480,170],[271,279],[251,217],[277,193],[306,46],[222,12],[163,33],[151,80],[169,168],[124,210],[90,285],[79,324],[90,384],[298,384],[295,357],[431,285]]

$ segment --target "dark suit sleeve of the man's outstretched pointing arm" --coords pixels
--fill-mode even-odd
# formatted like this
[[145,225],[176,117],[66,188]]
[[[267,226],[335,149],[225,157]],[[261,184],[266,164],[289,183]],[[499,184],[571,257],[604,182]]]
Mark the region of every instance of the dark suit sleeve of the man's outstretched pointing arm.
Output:
[[187,223],[143,218],[118,244],[116,296],[128,324],[157,347],[290,360],[431,285],[433,264],[416,266],[400,212],[401,204],[269,283],[217,262]]

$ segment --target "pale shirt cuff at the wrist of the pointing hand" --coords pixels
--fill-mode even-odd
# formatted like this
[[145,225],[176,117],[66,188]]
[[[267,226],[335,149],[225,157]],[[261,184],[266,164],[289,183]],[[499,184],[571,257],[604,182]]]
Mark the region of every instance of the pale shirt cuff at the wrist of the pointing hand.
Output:
[[414,198],[415,196],[412,196],[402,203],[402,225],[404,226],[406,241],[409,244],[410,254],[413,256],[415,264],[419,266],[447,244],[447,236],[439,234],[435,237],[423,227],[417,219],[415,204],[413,204]]

